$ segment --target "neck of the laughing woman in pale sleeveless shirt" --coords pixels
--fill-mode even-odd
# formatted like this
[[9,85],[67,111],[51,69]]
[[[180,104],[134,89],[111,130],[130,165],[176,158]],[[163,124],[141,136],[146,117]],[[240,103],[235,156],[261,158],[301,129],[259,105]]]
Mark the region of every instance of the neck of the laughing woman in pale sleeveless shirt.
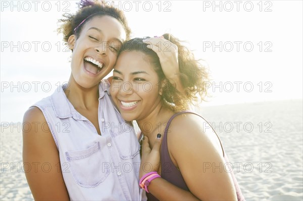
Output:
[[98,85],[89,89],[83,88],[76,83],[71,75],[69,85],[64,89],[64,93],[75,109],[89,109],[98,104],[99,90]]

